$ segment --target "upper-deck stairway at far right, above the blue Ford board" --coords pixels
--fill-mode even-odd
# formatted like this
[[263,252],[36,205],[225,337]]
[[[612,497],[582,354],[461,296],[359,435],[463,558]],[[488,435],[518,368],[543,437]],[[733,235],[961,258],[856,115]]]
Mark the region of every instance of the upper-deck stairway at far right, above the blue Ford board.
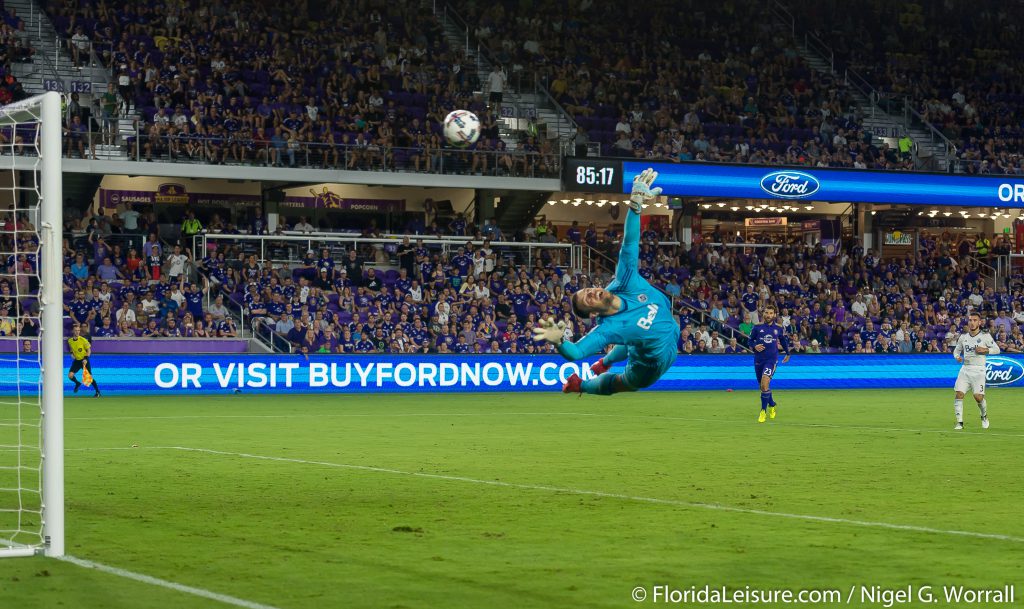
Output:
[[[831,63],[823,56],[812,50],[809,46],[798,45],[798,53],[807,64],[816,72],[830,74],[839,80],[844,76],[833,71]],[[864,96],[856,87],[850,88],[854,99],[857,101],[859,116],[863,117],[864,129],[870,129],[874,143],[888,143],[890,147],[896,147],[896,142],[905,130],[910,134],[918,146],[916,166],[918,169],[929,171],[945,171],[948,163],[946,145],[942,140],[933,138],[932,133],[926,129],[909,124],[902,116],[893,116],[884,112],[878,104]]]

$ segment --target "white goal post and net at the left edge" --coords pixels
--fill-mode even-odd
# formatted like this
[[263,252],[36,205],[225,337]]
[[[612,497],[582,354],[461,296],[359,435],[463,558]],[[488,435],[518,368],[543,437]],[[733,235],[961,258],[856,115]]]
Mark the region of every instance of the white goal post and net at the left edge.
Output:
[[0,107],[0,557],[63,554],[60,120]]

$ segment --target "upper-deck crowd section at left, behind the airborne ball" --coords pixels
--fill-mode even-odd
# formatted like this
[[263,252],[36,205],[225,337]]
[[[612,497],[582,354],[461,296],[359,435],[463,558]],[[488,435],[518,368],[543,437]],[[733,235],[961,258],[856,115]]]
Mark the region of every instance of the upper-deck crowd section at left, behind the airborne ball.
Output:
[[[474,95],[475,66],[451,49],[419,2],[307,3],[53,0],[58,32],[110,64],[117,85],[96,107],[73,108],[69,137],[102,135],[129,111],[142,117],[145,160],[552,175],[556,146],[527,137],[510,147],[495,110]],[[327,15],[330,18],[325,18]],[[315,24],[315,27],[310,27]],[[481,137],[452,148],[440,124],[473,111]],[[84,112],[88,110],[89,112]],[[72,121],[75,121],[73,118]],[[133,143],[133,142],[130,142]],[[133,148],[135,146],[132,146]],[[70,146],[69,155],[84,153]]]

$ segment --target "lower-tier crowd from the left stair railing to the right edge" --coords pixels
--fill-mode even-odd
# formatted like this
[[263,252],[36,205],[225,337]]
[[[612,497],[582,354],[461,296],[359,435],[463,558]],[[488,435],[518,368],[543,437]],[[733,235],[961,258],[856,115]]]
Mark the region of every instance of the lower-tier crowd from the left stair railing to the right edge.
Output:
[[[990,319],[1008,352],[1024,350],[1024,293],[983,287],[972,241],[928,237],[923,256],[881,261],[857,246],[829,259],[821,248],[687,250],[660,247],[657,236],[645,235],[640,272],[677,299],[683,353],[744,350],[742,335],[767,303],[797,352],[946,352],[972,310]],[[997,242],[992,252],[1004,249]],[[291,271],[250,259],[241,281],[222,270],[230,255],[204,267],[297,349],[331,352],[543,351],[532,343],[537,320],[564,319],[568,337],[586,333],[569,296],[606,278],[558,270],[543,254],[526,269],[486,240],[450,257],[406,243],[397,256],[400,269],[383,272],[356,251],[339,260],[310,252]]]

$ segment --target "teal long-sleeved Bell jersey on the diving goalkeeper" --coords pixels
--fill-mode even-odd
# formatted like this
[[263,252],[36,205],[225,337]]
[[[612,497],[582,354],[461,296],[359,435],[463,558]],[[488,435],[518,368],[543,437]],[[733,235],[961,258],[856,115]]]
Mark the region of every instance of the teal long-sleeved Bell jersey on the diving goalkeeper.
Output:
[[[626,345],[631,362],[660,366],[674,361],[679,343],[679,323],[672,316],[672,303],[660,290],[638,272],[640,257],[640,215],[632,210],[626,218],[623,246],[615,265],[615,278],[606,290],[623,301],[613,315],[600,318],[600,324],[575,345],[559,351],[570,359],[603,352],[608,345]],[[579,354],[573,351],[579,350]]]

